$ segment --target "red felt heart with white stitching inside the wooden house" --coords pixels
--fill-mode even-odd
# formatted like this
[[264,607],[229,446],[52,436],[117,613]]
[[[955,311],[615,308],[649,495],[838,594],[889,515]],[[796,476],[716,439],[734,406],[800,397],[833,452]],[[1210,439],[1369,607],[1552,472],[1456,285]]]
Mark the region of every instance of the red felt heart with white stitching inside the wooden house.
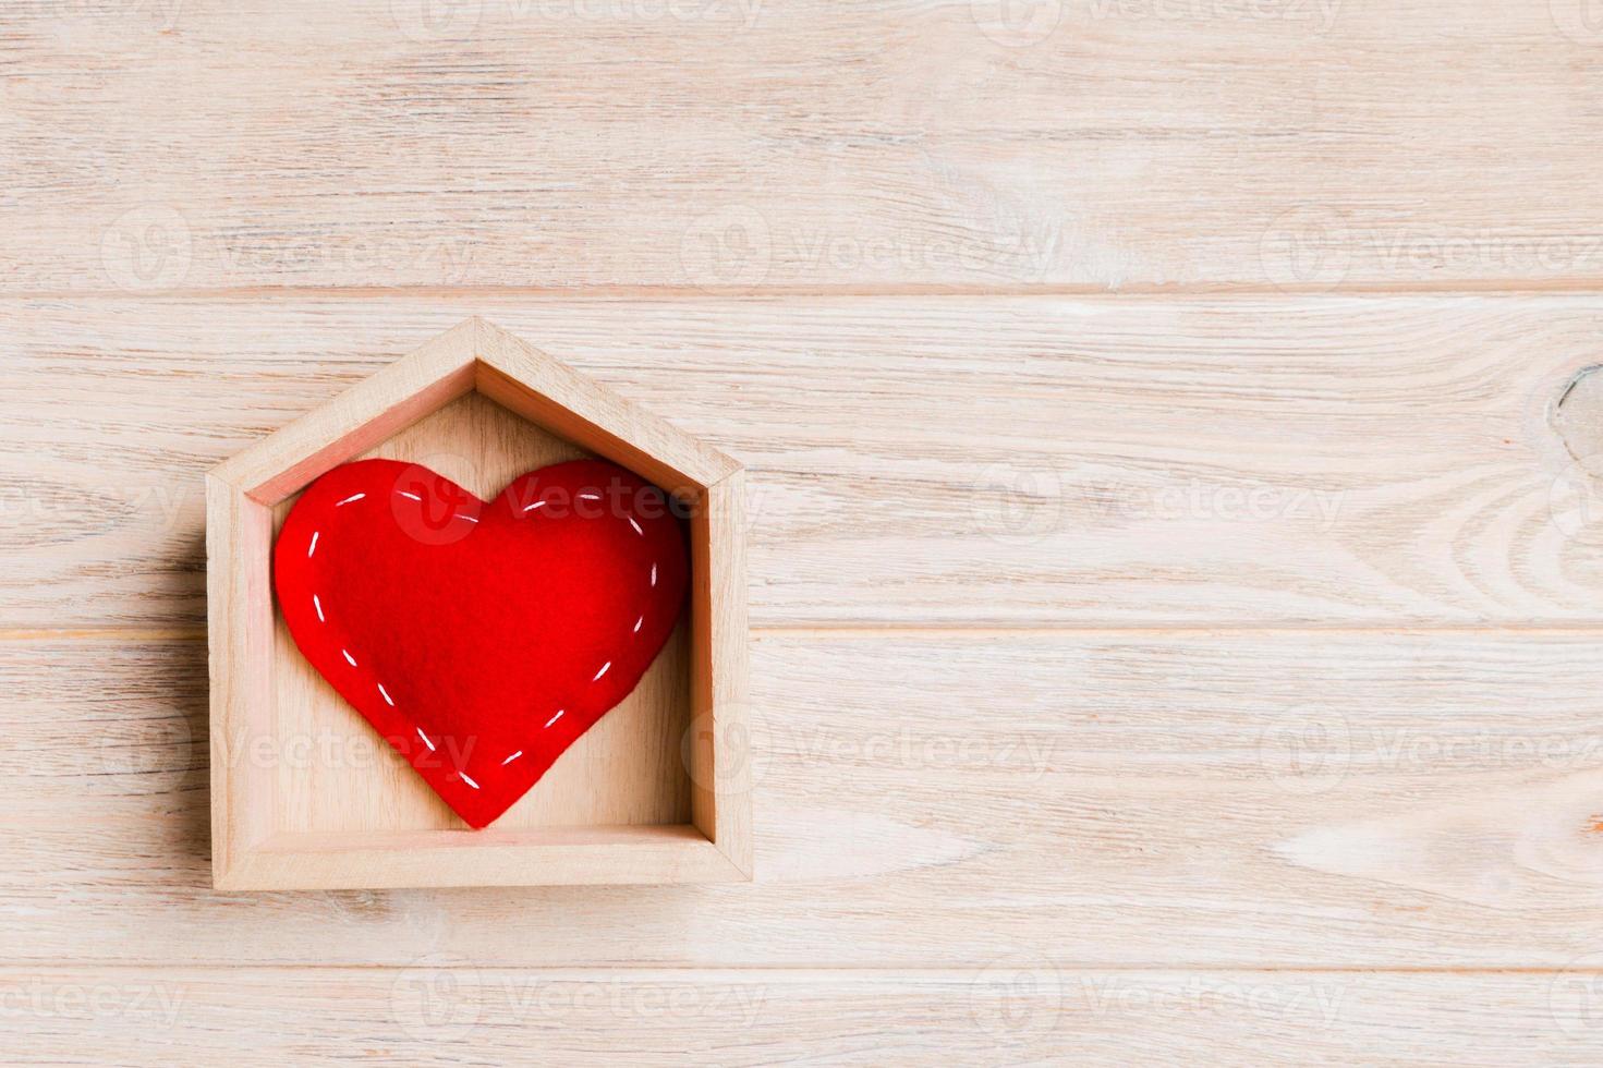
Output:
[[306,489],[274,545],[295,645],[470,826],[622,701],[673,632],[688,561],[660,489],[601,460],[494,502],[414,463]]

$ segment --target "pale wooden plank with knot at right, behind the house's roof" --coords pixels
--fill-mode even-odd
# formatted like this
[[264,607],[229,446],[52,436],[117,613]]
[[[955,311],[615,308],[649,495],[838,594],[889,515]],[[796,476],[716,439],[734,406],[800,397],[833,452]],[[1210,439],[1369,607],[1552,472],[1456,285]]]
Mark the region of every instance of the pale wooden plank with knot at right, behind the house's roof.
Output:
[[1593,297],[11,301],[0,625],[199,624],[199,473],[466,311],[749,465],[752,621],[1590,624]]

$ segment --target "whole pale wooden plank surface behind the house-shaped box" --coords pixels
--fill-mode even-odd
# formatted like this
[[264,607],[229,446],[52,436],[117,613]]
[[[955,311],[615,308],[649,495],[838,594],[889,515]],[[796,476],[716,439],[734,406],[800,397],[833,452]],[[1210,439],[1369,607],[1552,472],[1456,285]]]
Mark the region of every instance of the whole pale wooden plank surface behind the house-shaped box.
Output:
[[[1600,75],[1585,0],[6,6],[6,1060],[1598,1062]],[[749,465],[755,884],[210,890],[200,471],[468,314]]]

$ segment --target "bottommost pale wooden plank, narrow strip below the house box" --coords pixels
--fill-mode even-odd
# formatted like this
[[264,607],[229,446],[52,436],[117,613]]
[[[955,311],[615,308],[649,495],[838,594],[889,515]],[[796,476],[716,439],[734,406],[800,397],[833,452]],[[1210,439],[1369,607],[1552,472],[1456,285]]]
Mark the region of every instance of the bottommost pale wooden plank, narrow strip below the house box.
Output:
[[[1589,1063],[1603,977],[5,969],[8,1055],[119,1065]],[[263,1020],[274,1025],[263,1028]],[[1443,1026],[1451,1020],[1452,1026]]]

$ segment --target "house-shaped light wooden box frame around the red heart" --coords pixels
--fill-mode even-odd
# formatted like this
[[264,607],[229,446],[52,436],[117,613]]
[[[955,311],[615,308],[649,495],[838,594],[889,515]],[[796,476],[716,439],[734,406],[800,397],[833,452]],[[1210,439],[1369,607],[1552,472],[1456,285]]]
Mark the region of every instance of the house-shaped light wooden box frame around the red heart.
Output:
[[[470,831],[410,768],[385,759],[393,754],[377,733],[303,662],[274,608],[273,537],[306,484],[364,455],[434,462],[492,496],[497,481],[585,454],[689,507],[689,611],[636,693],[503,819]],[[212,470],[213,884],[750,879],[742,479],[729,457],[483,319]]]

